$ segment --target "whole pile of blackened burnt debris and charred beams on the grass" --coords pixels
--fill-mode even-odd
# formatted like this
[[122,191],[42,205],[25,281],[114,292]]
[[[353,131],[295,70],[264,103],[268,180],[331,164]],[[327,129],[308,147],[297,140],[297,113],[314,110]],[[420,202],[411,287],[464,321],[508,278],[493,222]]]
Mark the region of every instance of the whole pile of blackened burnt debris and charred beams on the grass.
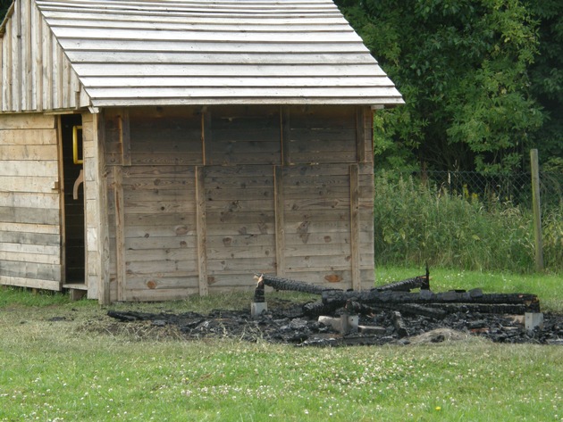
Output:
[[[563,315],[540,312],[534,294],[484,294],[480,289],[434,293],[428,269],[366,291],[325,289],[256,275],[250,310],[207,315],[110,310],[124,322],[176,328],[186,339],[229,337],[300,346],[441,342],[480,335],[498,343],[563,344]],[[320,296],[318,302],[267,299],[265,286]],[[268,309],[269,308],[269,309]]]

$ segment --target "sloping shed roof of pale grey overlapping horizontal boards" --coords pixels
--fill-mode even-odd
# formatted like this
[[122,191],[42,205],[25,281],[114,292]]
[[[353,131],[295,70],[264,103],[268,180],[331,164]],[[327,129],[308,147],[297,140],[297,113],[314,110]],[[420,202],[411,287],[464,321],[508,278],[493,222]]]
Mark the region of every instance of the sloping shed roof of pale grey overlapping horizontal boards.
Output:
[[36,4],[92,106],[403,103],[332,0]]

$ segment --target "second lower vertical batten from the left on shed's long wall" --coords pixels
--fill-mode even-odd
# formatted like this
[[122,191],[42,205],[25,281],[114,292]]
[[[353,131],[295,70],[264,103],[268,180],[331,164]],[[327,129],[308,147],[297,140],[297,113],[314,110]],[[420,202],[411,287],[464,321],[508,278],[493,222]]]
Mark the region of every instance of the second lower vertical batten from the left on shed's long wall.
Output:
[[199,274],[199,295],[209,294],[207,283],[207,228],[205,168],[196,167],[196,212],[197,212],[197,272]]

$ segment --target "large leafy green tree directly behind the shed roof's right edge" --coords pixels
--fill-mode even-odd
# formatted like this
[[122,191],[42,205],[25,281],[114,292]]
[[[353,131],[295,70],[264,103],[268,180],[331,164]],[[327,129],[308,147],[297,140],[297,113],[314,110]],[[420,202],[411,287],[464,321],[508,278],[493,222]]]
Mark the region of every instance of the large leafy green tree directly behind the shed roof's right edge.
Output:
[[529,94],[537,22],[523,4],[337,3],[407,103],[375,117],[380,166],[492,171],[522,164],[543,118]]

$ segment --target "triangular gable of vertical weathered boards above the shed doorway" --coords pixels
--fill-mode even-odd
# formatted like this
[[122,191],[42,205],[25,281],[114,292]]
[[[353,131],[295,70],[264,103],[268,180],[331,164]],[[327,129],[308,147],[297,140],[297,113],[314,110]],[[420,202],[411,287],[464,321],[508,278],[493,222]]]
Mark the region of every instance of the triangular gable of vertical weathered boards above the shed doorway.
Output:
[[[77,74],[32,0],[17,0],[0,29],[0,111],[42,112],[88,105]],[[80,100],[82,95],[82,100]]]

